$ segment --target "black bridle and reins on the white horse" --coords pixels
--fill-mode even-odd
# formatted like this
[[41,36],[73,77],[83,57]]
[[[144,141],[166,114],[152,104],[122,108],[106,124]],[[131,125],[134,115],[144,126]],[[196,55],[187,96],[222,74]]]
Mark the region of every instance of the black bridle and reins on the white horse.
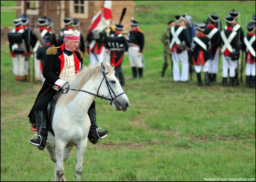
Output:
[[[80,92],[85,92],[85,93],[88,93],[88,94],[92,94],[92,95],[95,95],[96,97],[101,98],[101,100],[102,100],[102,99],[110,100],[110,105],[112,105],[112,103],[116,102],[116,98],[119,97],[121,94],[125,94],[125,92],[123,92],[123,93],[121,93],[121,94],[118,94],[118,95],[115,95],[115,92],[114,92],[113,89],[111,88],[110,84],[108,83],[107,77],[106,77],[106,75],[108,74],[108,72],[105,73],[104,71],[102,71],[102,74],[103,74],[103,78],[102,78],[102,80],[101,80],[101,84],[102,84],[102,82],[103,82],[103,80],[104,80],[104,78],[105,78],[105,81],[106,81],[106,84],[107,84],[107,87],[108,87],[108,92],[109,92],[109,94],[110,94],[110,96],[111,96],[111,99],[104,97],[104,95],[102,95],[102,96],[99,95],[99,90],[100,90],[100,88],[101,88],[101,84],[100,84],[100,86],[99,86],[99,88],[98,88],[97,94],[88,92],[88,91],[86,91],[86,90],[78,90],[78,89],[73,89],[73,88],[67,88],[67,92],[68,92],[68,90],[74,90],[74,91],[80,91]],[[62,89],[62,88],[61,88],[61,89]],[[63,93],[63,94],[66,94],[67,92],[63,93],[63,90],[62,90],[62,93]],[[115,97],[113,97],[111,93],[113,93]]]

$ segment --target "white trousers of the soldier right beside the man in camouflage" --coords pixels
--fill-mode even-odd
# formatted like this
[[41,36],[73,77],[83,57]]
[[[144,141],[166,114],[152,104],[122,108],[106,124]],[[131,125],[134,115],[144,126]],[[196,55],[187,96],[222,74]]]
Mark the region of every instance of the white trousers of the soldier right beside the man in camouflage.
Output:
[[[176,49],[172,54],[172,61],[173,61],[173,80],[175,82],[182,81],[186,82],[189,81],[189,56],[188,51],[183,50],[182,53],[176,53]],[[182,63],[182,74],[180,75],[180,68],[179,68],[179,61],[181,60]]]

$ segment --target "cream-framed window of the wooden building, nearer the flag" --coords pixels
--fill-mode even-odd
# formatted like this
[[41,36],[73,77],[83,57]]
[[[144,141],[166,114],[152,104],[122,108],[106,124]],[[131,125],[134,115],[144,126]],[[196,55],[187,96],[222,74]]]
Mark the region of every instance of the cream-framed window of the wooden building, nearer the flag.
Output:
[[69,16],[77,19],[88,19],[88,4],[88,0],[70,0]]

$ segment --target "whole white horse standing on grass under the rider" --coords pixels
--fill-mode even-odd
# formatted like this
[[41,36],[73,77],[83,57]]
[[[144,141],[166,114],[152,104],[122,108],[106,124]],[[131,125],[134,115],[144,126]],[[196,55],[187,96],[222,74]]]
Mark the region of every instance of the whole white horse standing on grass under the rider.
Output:
[[54,181],[66,181],[64,161],[76,154],[76,180],[81,181],[83,155],[87,147],[91,125],[88,109],[95,97],[107,100],[117,111],[126,111],[129,100],[109,63],[85,67],[77,74],[66,94],[61,94],[53,115],[54,135],[48,131],[46,148],[55,163]]

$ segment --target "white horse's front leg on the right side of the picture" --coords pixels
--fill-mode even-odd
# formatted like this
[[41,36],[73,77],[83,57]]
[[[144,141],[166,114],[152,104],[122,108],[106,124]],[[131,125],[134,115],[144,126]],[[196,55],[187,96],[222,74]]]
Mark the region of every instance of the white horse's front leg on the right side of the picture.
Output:
[[86,150],[87,147],[87,138],[85,138],[84,140],[81,140],[81,142],[79,144],[76,145],[76,166],[75,166],[75,174],[76,174],[76,181],[81,182],[81,176],[83,173],[83,156],[84,156],[84,152]]

